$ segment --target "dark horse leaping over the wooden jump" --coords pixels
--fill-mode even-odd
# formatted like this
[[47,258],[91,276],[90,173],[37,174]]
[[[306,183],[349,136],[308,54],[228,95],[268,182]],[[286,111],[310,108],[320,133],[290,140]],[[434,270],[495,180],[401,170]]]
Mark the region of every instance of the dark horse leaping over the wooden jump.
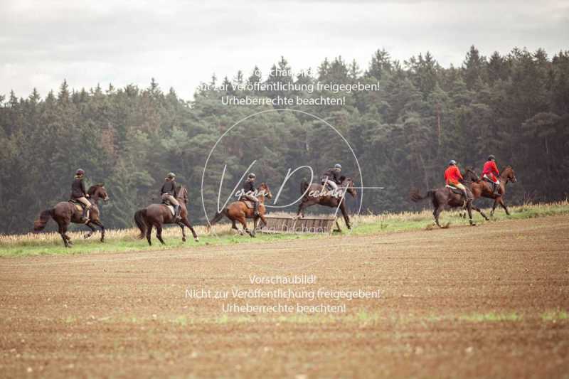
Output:
[[[353,181],[351,178],[341,176],[340,181],[341,183],[338,186],[338,190],[329,191],[323,184],[309,184],[307,181],[303,180],[300,183],[300,193],[302,193],[303,196],[298,206],[297,218],[303,218],[304,208],[308,208],[314,204],[324,205],[326,207],[332,208],[340,208],[341,213],[344,216],[346,226],[348,229],[351,229],[350,216],[346,210],[346,202],[344,201],[344,197],[346,196],[346,192],[349,193],[353,198],[355,198],[358,193],[356,192],[356,188],[353,186]],[[337,220],[336,226],[338,227],[338,230],[341,231]]]

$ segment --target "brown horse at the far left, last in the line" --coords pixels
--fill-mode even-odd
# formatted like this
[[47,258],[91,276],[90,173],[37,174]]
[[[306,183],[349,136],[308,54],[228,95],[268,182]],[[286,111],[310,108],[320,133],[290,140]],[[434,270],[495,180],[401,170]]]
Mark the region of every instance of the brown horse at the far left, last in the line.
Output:
[[44,210],[40,213],[39,218],[33,222],[33,231],[39,232],[40,230],[43,230],[43,228],[46,228],[46,224],[49,219],[53,218],[53,220],[58,223],[58,233],[63,239],[63,244],[65,247],[71,247],[73,243],[71,242],[71,238],[67,235],[67,228],[70,223],[87,225],[91,231],[85,235],[85,238],[90,237],[95,232],[95,226],[93,226],[93,224],[95,224],[101,228],[101,242],[105,242],[105,226],[102,225],[99,220],[99,208],[97,207],[97,203],[100,198],[102,198],[103,201],[109,200],[105,184],[100,183],[95,186],[91,186],[87,190],[87,193],[89,194],[90,202],[92,203],[87,223],[81,220],[83,210],[79,210],[75,204],[70,201],[62,201],[55,205],[55,208]]

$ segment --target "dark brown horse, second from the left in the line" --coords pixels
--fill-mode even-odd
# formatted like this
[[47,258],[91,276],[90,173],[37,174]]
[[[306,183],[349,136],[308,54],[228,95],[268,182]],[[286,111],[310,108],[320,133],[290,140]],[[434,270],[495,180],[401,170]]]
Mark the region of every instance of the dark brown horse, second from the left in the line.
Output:
[[152,228],[156,228],[156,238],[161,242],[162,245],[166,245],[166,242],[162,239],[162,225],[164,224],[176,224],[182,229],[182,241],[186,242],[186,231],[184,226],[187,226],[191,230],[193,235],[193,240],[198,242],[199,238],[196,234],[196,230],[193,230],[193,226],[188,220],[188,209],[186,204],[188,203],[188,190],[184,186],[178,187],[178,196],[176,200],[180,203],[180,217],[181,220],[176,221],[175,216],[171,213],[170,208],[165,204],[151,204],[147,208],[139,209],[134,213],[134,223],[140,230],[140,234],[137,236],[140,240],[146,235],[148,240],[148,245],[152,245],[150,233]]

